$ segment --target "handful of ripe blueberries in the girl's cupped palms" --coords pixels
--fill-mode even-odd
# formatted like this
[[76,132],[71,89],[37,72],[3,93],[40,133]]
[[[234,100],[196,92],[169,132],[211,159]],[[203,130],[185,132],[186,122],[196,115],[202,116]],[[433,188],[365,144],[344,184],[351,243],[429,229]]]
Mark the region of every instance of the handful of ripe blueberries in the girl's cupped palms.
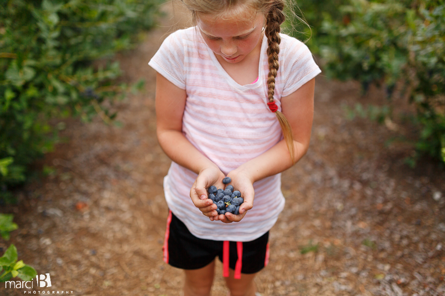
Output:
[[[229,184],[232,180],[229,177],[223,179],[223,184]],[[244,202],[241,192],[234,190],[232,185],[228,185],[225,189],[217,189],[212,185],[208,188],[209,198],[217,205],[219,215],[229,212],[234,215],[239,214],[239,206]]]

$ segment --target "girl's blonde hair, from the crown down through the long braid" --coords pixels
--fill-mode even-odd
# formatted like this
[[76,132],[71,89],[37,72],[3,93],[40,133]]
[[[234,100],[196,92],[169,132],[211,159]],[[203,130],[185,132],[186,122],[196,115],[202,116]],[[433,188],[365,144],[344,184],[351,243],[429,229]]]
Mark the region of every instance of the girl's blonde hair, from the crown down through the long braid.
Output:
[[215,16],[236,15],[238,12],[252,9],[263,13],[266,19],[265,34],[267,37],[267,57],[269,73],[267,75],[267,97],[269,109],[275,112],[286,141],[292,163],[294,163],[294,144],[292,128],[283,113],[276,110],[273,95],[275,93],[275,77],[278,72],[278,53],[280,51],[281,24],[285,21],[285,0],[180,0],[191,11],[193,23],[196,24],[198,13]]

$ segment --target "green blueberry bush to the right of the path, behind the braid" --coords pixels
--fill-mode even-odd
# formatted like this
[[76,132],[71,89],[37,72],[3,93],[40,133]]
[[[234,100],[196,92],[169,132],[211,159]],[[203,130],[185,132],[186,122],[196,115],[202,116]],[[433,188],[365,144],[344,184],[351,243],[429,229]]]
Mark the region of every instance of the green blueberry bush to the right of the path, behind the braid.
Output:
[[335,4],[337,9],[318,0],[300,3],[309,24],[317,27],[310,42],[322,58],[324,72],[357,79],[365,91],[371,83],[383,86],[388,99],[401,82],[417,110],[418,154],[445,163],[445,1]]

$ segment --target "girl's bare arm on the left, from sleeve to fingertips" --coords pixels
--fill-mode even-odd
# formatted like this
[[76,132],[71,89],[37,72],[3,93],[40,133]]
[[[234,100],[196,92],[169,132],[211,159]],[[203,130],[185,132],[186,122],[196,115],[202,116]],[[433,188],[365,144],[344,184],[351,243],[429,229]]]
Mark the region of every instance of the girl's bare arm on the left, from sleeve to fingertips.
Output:
[[[194,205],[208,217],[217,214],[216,205],[207,199],[206,188],[223,186],[223,172],[196,149],[182,134],[185,90],[178,88],[161,74],[156,76],[156,133],[159,145],[174,162],[199,174],[190,191]],[[221,184],[219,184],[221,183]]]

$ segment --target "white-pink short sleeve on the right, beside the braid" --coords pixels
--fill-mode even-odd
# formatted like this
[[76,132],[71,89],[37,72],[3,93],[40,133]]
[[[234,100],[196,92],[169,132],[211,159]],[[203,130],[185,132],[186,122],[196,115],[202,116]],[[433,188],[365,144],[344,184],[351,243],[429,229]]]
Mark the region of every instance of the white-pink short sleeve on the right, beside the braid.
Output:
[[306,82],[321,73],[313,60],[312,53],[303,42],[289,37],[283,60],[284,87],[281,96],[285,97],[299,89]]

